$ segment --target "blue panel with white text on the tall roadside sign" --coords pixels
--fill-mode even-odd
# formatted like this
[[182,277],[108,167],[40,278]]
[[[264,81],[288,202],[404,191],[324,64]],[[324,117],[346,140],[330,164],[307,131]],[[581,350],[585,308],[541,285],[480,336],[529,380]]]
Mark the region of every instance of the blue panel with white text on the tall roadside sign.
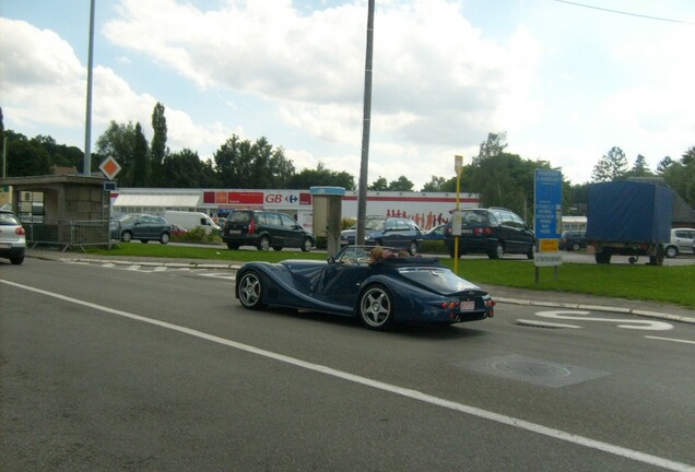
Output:
[[559,170],[535,169],[535,237],[539,240],[559,239],[562,237],[562,173]]

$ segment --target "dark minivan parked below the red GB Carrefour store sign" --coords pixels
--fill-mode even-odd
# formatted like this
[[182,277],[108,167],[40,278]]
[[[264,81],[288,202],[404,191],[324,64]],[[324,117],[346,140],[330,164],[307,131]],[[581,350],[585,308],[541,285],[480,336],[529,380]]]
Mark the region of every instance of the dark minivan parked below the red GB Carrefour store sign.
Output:
[[308,252],[316,245],[314,233],[285,213],[264,210],[235,210],[222,229],[229,249],[256,246],[258,250],[301,248]]

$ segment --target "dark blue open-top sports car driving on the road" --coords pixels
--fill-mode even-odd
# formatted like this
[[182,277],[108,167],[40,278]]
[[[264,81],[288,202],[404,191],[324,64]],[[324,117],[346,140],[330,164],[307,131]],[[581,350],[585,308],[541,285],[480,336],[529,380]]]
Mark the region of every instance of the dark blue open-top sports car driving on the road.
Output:
[[393,253],[369,263],[373,248],[348,246],[327,262],[248,262],[236,274],[236,297],[249,309],[271,305],[356,316],[375,330],[397,322],[452,324],[494,316],[492,297],[438,259]]

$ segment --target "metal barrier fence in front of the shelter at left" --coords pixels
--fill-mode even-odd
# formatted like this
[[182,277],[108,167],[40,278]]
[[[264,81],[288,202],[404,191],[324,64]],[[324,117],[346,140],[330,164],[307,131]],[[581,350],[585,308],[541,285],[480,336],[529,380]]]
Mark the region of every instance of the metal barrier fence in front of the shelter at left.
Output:
[[[107,246],[110,248],[114,224],[108,220],[22,220],[26,232],[26,244],[58,246],[62,251],[72,248],[84,250],[85,246]],[[116,234],[117,232],[117,227]]]

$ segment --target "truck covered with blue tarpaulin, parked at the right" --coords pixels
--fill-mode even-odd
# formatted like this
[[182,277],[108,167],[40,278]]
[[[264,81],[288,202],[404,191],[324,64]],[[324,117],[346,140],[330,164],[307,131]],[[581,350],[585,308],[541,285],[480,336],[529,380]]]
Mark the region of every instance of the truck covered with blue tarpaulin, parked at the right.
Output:
[[[663,244],[671,238],[673,190],[657,184],[619,180],[589,186],[587,245],[597,263],[611,256],[649,256],[649,263],[663,264]],[[589,249],[591,250],[591,249]]]

